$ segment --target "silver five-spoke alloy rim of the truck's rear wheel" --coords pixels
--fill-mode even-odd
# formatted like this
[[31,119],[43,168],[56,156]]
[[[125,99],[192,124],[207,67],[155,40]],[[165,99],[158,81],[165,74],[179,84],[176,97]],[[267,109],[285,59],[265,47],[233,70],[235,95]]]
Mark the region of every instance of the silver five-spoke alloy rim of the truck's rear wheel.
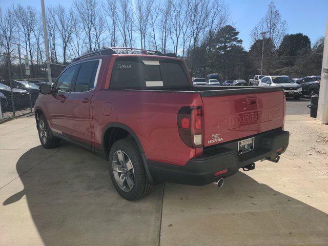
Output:
[[134,186],[134,169],[130,157],[124,151],[116,151],[113,156],[112,168],[119,188],[125,192],[131,191]]

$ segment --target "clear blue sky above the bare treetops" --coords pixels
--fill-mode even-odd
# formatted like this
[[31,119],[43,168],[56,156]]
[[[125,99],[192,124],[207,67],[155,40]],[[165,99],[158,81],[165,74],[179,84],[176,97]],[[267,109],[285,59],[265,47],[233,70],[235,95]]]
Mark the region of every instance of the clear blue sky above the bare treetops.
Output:
[[[214,0],[215,1],[215,0]],[[31,5],[40,9],[40,0],[0,0],[1,7],[7,8],[12,4]],[[245,49],[251,46],[250,33],[259,20],[264,16],[271,0],[226,0],[230,5],[231,24],[240,32]],[[45,5],[70,7],[70,0],[45,0]],[[288,33],[303,33],[308,35],[313,45],[324,36],[328,0],[275,0],[277,9],[288,23]]]

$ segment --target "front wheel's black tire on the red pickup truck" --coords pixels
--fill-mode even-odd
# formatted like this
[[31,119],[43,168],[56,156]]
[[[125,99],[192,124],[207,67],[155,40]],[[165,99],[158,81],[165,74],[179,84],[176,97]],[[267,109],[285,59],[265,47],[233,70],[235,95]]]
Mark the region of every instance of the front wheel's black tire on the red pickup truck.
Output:
[[[42,114],[38,116],[37,130],[41,145],[46,149],[52,149],[58,146],[59,139],[52,135],[52,132],[48,126],[46,117]],[[42,132],[45,133],[46,138],[42,137]]]

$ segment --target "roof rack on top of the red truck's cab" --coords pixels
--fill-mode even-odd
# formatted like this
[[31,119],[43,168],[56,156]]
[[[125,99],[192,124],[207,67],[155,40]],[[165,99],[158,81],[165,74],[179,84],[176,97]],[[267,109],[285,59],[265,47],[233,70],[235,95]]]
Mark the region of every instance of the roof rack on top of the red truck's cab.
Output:
[[103,49],[97,49],[95,51],[86,53],[84,55],[81,55],[75,59],[73,59],[73,61],[77,61],[79,59],[82,58],[86,58],[89,56],[93,56],[93,55],[112,55],[115,54],[116,51],[126,51],[126,52],[131,52],[131,53],[141,53],[141,54],[154,54],[154,55],[163,55],[161,52],[156,51],[156,50],[146,50],[146,49],[139,49],[139,48],[131,48],[131,47],[104,47]]

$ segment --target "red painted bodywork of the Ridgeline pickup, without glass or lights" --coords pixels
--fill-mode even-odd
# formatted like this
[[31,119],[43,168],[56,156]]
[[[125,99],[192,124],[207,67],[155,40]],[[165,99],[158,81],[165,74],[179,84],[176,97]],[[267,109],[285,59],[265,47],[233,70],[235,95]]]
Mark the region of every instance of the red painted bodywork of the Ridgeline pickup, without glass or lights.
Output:
[[[205,147],[283,126],[282,91],[201,97],[194,91],[110,90],[118,56],[122,55],[92,57],[102,59],[94,90],[38,97],[35,109],[43,110],[52,130],[102,148],[105,127],[118,122],[136,134],[147,159],[183,166],[203,151],[189,148],[179,137],[177,112],[183,106],[202,106]],[[84,98],[89,102],[82,103]]]

